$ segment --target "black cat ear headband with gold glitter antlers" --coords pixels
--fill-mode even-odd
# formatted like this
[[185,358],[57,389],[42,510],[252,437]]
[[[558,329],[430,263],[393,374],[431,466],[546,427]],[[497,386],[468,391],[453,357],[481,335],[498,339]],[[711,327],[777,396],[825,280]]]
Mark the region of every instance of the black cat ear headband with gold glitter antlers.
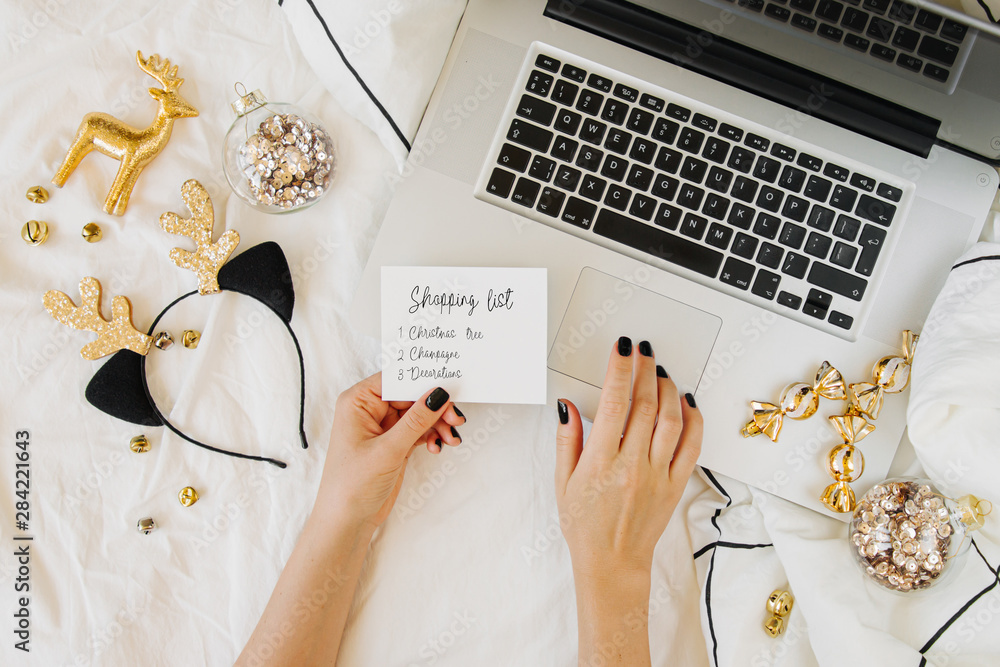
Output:
[[187,236],[198,244],[194,251],[181,248],[170,251],[170,259],[177,266],[190,269],[198,276],[198,289],[177,297],[160,311],[147,333],[142,333],[132,324],[132,304],[124,296],[111,300],[111,320],[104,319],[101,315],[101,283],[96,278],[80,281],[80,306],[58,290],[46,292],[42,303],[59,322],[98,335],[96,341],[80,350],[84,359],[94,361],[113,354],[87,385],[87,400],[98,410],[133,424],[166,426],[184,440],[213,452],[266,461],[284,468],[286,464],[282,461],[212,447],[182,433],[160,412],[149,392],[146,355],[153,343],[153,331],[167,311],[195,294],[216,294],[220,291],[243,294],[261,302],[277,315],[295,343],[299,357],[299,439],[303,449],[309,446],[304,429],[305,364],[299,341],[291,327],[295,291],[281,247],[273,241],[261,243],[227,263],[240,242],[240,235],[235,230],[229,230],[217,242],[212,242],[215,221],[212,200],[198,181],[192,179],[184,183],[181,196],[191,211],[191,217],[182,219],[176,213],[164,213],[160,216],[160,226],[166,232]]

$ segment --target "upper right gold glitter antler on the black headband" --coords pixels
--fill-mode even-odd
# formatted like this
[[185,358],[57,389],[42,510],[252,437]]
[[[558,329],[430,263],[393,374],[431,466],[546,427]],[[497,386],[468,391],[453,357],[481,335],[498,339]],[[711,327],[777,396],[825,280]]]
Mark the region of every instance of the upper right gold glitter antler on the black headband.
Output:
[[160,227],[170,234],[194,240],[198,249],[190,252],[174,248],[170,251],[170,259],[180,268],[189,269],[198,276],[199,293],[215,294],[220,291],[219,269],[239,244],[240,235],[230,229],[217,243],[212,243],[212,227],[215,224],[212,199],[198,181],[186,181],[181,186],[181,197],[191,211],[191,217],[181,219],[176,213],[164,213],[160,216]]

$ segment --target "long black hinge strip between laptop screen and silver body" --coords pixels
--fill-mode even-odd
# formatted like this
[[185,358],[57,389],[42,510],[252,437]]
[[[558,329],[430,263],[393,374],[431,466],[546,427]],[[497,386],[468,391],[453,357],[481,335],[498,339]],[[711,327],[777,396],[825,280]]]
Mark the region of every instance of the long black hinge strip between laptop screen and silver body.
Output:
[[547,0],[545,16],[920,157],[937,139],[939,120],[629,2]]

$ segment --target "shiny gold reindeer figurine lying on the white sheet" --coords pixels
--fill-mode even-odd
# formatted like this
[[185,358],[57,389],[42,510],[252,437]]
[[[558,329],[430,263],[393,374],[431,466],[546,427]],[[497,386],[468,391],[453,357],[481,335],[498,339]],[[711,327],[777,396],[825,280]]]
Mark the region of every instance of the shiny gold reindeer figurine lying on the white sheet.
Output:
[[59,171],[52,178],[55,185],[62,187],[80,164],[80,160],[94,149],[119,160],[121,166],[118,168],[118,175],[104,200],[104,212],[112,215],[125,213],[139,173],[167,145],[174,119],[198,115],[198,110],[177,92],[184,79],[177,78],[176,65],[171,67],[170,60],[167,59],[161,63],[160,56],[155,53],[144,59],[142,51],[136,51],[135,59],[143,72],[163,86],[162,90],[149,89],[149,94],[160,103],[156,120],[146,129],[138,130],[106,113],[88,113],[83,117],[80,129],[76,131],[76,139],[66,152]]

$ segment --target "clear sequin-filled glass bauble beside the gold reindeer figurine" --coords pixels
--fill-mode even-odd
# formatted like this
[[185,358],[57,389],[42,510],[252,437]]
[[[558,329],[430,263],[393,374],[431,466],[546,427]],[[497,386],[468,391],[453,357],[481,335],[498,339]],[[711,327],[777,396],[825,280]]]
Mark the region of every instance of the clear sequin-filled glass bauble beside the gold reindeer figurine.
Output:
[[259,90],[232,103],[236,120],[222,150],[222,166],[240,199],[266,213],[312,206],[329,190],[336,149],[323,125],[291,104],[268,102]]

